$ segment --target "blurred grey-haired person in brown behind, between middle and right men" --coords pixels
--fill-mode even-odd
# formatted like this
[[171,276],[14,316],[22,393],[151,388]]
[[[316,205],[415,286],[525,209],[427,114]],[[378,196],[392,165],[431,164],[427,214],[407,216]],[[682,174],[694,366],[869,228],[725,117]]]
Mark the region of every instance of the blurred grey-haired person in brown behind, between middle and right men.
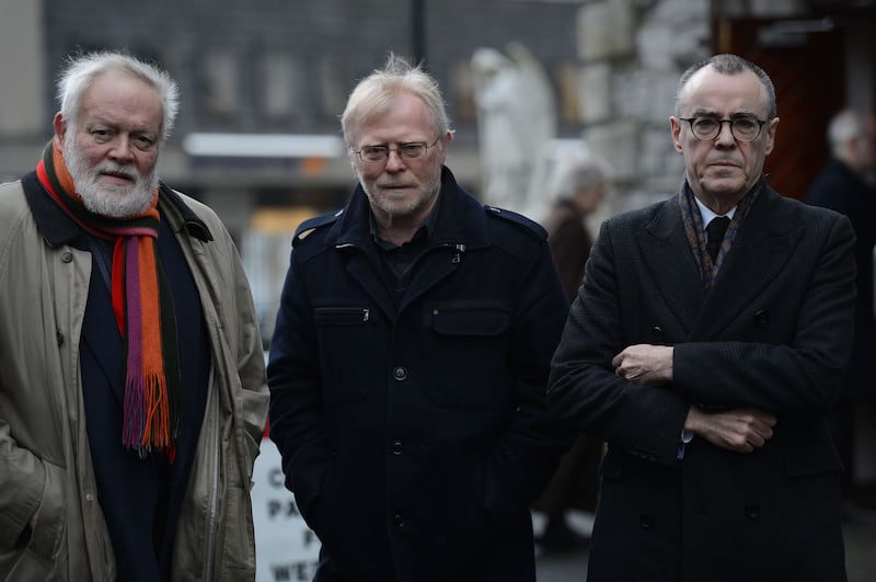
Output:
[[[549,176],[554,196],[543,225],[548,244],[569,304],[578,296],[592,237],[586,220],[606,197],[606,175],[597,158],[586,152],[560,157]],[[532,509],[545,515],[539,547],[549,554],[586,548],[588,536],[569,525],[570,509],[596,511],[602,442],[579,434],[560,461],[553,478]]]

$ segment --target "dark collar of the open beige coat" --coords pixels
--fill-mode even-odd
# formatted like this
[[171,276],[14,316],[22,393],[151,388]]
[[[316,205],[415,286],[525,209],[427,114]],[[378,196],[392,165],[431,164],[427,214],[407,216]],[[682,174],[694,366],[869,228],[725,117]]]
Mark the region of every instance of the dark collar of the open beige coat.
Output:
[[[36,172],[24,174],[21,183],[34,220],[49,246],[69,244],[81,235],[79,226],[43,190]],[[207,225],[185,204],[180,194],[164,183],[159,185],[159,207],[162,208],[162,217],[173,224],[174,231],[185,230],[203,242],[214,240]]]

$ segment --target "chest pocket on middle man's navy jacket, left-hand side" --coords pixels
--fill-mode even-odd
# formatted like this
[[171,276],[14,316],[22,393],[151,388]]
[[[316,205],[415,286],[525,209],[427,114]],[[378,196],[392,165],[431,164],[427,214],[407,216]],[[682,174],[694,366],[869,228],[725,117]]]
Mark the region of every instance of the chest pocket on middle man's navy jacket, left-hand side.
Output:
[[374,310],[366,306],[318,307],[313,311],[320,353],[323,399],[326,404],[356,402],[368,396],[376,376],[369,345]]

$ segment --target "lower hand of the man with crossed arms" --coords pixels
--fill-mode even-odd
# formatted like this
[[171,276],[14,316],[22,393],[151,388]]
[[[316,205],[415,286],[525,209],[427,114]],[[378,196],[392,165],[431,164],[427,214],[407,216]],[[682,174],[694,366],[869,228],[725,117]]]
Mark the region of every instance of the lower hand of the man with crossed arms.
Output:
[[684,420],[684,430],[721,448],[751,453],[772,438],[775,423],[773,414],[753,408],[703,412],[691,407]]

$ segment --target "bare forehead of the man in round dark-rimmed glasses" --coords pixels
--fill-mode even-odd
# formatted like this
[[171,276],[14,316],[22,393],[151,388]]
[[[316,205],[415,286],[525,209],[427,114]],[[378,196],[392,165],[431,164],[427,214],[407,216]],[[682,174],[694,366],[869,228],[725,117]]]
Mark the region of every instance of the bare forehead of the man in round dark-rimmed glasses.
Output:
[[750,70],[727,75],[711,65],[703,67],[691,76],[680,96],[683,116],[748,113],[763,119],[769,115],[766,89]]

